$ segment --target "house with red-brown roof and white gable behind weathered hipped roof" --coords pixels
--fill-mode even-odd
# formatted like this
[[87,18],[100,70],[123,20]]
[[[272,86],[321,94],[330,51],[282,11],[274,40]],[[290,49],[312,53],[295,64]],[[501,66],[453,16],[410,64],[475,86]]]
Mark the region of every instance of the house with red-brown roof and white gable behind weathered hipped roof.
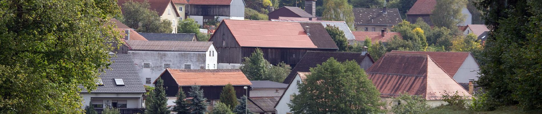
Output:
[[469,79],[478,81],[480,66],[470,52],[446,52],[446,51],[396,51],[395,53],[411,53],[429,55],[450,77],[457,83],[469,83]]

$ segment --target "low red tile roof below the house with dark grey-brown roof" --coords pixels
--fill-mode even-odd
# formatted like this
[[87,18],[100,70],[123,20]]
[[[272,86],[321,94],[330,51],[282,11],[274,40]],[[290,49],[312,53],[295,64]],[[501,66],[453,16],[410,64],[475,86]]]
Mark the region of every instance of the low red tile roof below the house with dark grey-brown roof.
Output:
[[371,43],[378,43],[379,41],[388,42],[393,39],[393,36],[397,35],[399,38],[403,38],[399,32],[384,32],[384,37],[382,37],[381,31],[352,31],[356,41],[365,41],[365,39],[371,38]]

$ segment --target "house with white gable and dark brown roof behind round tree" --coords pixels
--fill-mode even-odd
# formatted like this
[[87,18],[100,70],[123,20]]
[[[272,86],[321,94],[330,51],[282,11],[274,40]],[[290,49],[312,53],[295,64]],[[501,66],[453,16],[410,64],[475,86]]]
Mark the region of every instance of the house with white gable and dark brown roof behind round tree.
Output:
[[374,63],[373,59],[366,52],[326,52],[326,51],[307,51],[305,56],[301,58],[298,65],[292,69],[285,81],[282,83],[288,84],[286,91],[281,95],[278,103],[274,106],[276,113],[287,114],[292,113],[288,103],[293,99],[294,94],[299,94],[298,84],[305,81],[306,75],[310,74],[310,68],[317,67],[327,59],[333,57],[338,62],[356,61],[362,69],[368,69]]

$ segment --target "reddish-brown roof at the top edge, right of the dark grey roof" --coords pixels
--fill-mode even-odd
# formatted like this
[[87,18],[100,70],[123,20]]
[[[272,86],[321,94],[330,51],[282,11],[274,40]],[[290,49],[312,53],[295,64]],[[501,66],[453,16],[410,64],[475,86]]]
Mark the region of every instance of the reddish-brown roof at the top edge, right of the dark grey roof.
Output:
[[433,14],[433,9],[435,9],[435,5],[437,4],[437,1],[435,0],[418,0],[414,5],[412,5],[412,8],[408,12],[406,12],[407,15],[427,15],[427,14]]

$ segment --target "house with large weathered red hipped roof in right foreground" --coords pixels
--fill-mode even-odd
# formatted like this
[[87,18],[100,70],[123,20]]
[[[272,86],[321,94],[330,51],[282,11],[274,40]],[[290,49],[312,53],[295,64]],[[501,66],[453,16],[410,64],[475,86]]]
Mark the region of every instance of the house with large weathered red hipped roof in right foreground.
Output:
[[442,97],[445,93],[472,97],[439,65],[429,55],[388,52],[366,73],[380,91],[387,110],[398,105],[391,98],[402,93],[422,96],[431,107],[447,104]]

